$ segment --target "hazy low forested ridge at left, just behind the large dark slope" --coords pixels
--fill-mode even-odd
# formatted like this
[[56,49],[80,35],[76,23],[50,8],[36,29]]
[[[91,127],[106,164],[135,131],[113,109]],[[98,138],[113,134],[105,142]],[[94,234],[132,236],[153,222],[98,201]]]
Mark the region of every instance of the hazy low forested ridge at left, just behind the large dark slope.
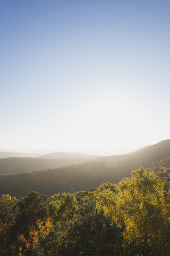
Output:
[[85,156],[76,158],[34,158],[34,157],[8,157],[0,159],[0,175],[20,172],[36,171],[46,168],[61,167],[65,165],[82,163],[91,159],[98,158],[97,156]]

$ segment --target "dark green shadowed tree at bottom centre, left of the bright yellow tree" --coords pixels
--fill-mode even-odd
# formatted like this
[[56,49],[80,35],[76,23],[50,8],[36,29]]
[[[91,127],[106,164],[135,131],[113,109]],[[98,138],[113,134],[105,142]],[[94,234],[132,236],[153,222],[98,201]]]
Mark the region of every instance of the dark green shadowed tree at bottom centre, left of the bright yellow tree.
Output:
[[[57,222],[50,229],[49,234],[41,240],[40,255],[118,256],[123,250],[121,231],[98,212],[94,202],[89,202],[80,205],[77,215],[64,222],[64,226],[62,222]],[[38,248],[36,252],[39,252]]]

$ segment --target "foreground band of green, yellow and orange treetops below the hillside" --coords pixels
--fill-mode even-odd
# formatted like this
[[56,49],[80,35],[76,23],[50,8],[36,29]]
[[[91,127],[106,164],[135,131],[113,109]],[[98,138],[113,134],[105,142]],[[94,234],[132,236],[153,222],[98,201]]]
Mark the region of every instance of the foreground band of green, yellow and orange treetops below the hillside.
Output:
[[142,167],[117,186],[0,198],[2,256],[170,255],[170,195]]

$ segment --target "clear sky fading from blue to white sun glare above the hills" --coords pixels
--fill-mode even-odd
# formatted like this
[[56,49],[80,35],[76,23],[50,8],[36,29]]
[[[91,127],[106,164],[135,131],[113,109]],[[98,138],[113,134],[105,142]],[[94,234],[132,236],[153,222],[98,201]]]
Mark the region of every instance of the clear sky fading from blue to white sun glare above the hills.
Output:
[[0,0],[0,148],[170,139],[169,13],[164,0]]

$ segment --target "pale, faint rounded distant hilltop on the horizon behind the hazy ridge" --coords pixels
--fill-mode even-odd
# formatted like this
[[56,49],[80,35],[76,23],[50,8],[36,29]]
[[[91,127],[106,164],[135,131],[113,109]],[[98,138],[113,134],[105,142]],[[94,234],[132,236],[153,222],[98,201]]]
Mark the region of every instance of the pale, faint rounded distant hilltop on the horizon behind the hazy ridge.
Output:
[[[41,158],[77,158],[77,157],[94,157],[93,155],[88,154],[82,154],[77,152],[56,152],[56,153],[50,153],[46,155],[39,156]],[[97,156],[95,156],[97,157]],[[99,157],[99,156],[98,156]]]

